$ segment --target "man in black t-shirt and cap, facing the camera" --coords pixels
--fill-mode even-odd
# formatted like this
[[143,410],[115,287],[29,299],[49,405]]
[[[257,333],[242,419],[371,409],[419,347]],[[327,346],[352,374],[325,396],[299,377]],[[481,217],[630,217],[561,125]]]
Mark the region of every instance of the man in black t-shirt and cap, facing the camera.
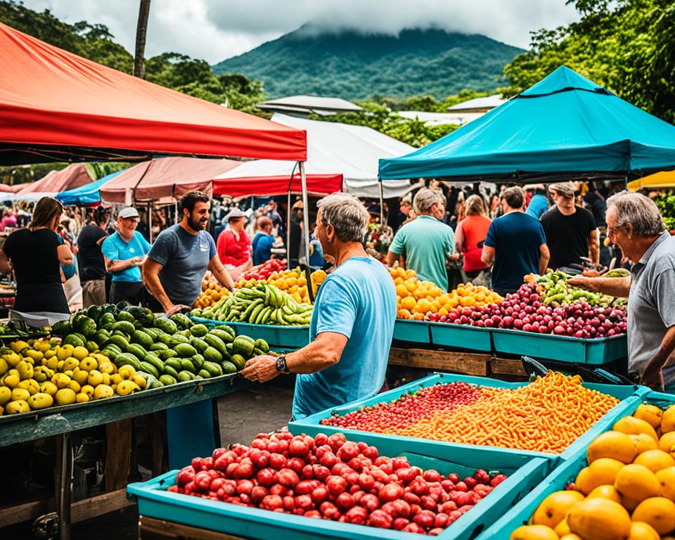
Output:
[[593,214],[574,205],[574,184],[559,182],[548,187],[555,206],[541,216],[546,233],[546,244],[551,251],[548,267],[581,263],[580,257],[591,257],[598,262],[598,230]]

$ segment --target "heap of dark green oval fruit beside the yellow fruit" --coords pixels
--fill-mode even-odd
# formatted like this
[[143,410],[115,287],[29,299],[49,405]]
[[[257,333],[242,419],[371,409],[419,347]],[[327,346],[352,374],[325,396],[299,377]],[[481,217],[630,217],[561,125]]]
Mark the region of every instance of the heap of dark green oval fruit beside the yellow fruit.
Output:
[[236,335],[226,325],[211,330],[184,314],[155,317],[143,307],[92,306],[57,323],[64,345],[101,348],[117,368],[131,366],[147,387],[236,373],[252,356],[271,354],[264,340]]

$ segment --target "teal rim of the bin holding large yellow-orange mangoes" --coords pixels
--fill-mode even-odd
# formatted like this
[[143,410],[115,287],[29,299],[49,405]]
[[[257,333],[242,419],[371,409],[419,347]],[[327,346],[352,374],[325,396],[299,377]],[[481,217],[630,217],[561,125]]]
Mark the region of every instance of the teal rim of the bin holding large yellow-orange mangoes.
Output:
[[[635,412],[643,401],[667,409],[667,407],[675,404],[675,395],[662,394],[660,392],[648,392],[643,397],[634,398],[629,404],[626,404],[624,409],[612,422],[604,422],[602,429],[596,432],[595,437],[601,432],[610,430],[612,425],[621,416],[631,415]],[[603,419],[605,420],[605,419]],[[599,427],[596,425],[596,427]],[[527,521],[534,513],[534,510],[539,506],[548,495],[554,491],[565,489],[567,482],[574,482],[579,471],[588,465],[586,461],[586,448],[590,441],[579,448],[577,453],[568,459],[563,465],[560,465],[553,471],[544,482],[541,482],[531,493],[525,496],[522,501],[516,504],[513,508],[503,515],[498,521],[494,523],[489,529],[478,536],[478,540],[498,540],[508,539],[510,534],[518,529],[521,525],[527,525]]]

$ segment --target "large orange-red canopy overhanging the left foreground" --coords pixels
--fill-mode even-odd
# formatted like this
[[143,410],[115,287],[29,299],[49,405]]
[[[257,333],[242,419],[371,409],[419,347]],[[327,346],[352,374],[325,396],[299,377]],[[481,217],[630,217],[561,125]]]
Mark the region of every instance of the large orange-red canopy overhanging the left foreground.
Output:
[[299,129],[131,77],[1,23],[0,51],[1,165],[306,157]]

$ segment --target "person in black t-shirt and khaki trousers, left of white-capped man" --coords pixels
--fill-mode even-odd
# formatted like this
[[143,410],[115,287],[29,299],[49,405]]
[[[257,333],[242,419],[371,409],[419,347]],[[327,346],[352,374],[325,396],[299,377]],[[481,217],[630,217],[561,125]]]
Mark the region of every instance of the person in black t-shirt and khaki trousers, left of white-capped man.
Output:
[[98,207],[94,212],[93,222],[86,224],[77,237],[77,265],[79,281],[82,283],[82,304],[84,307],[101,305],[106,302],[105,295],[105,263],[101,252],[101,243],[108,237],[105,232],[110,219],[110,212]]

